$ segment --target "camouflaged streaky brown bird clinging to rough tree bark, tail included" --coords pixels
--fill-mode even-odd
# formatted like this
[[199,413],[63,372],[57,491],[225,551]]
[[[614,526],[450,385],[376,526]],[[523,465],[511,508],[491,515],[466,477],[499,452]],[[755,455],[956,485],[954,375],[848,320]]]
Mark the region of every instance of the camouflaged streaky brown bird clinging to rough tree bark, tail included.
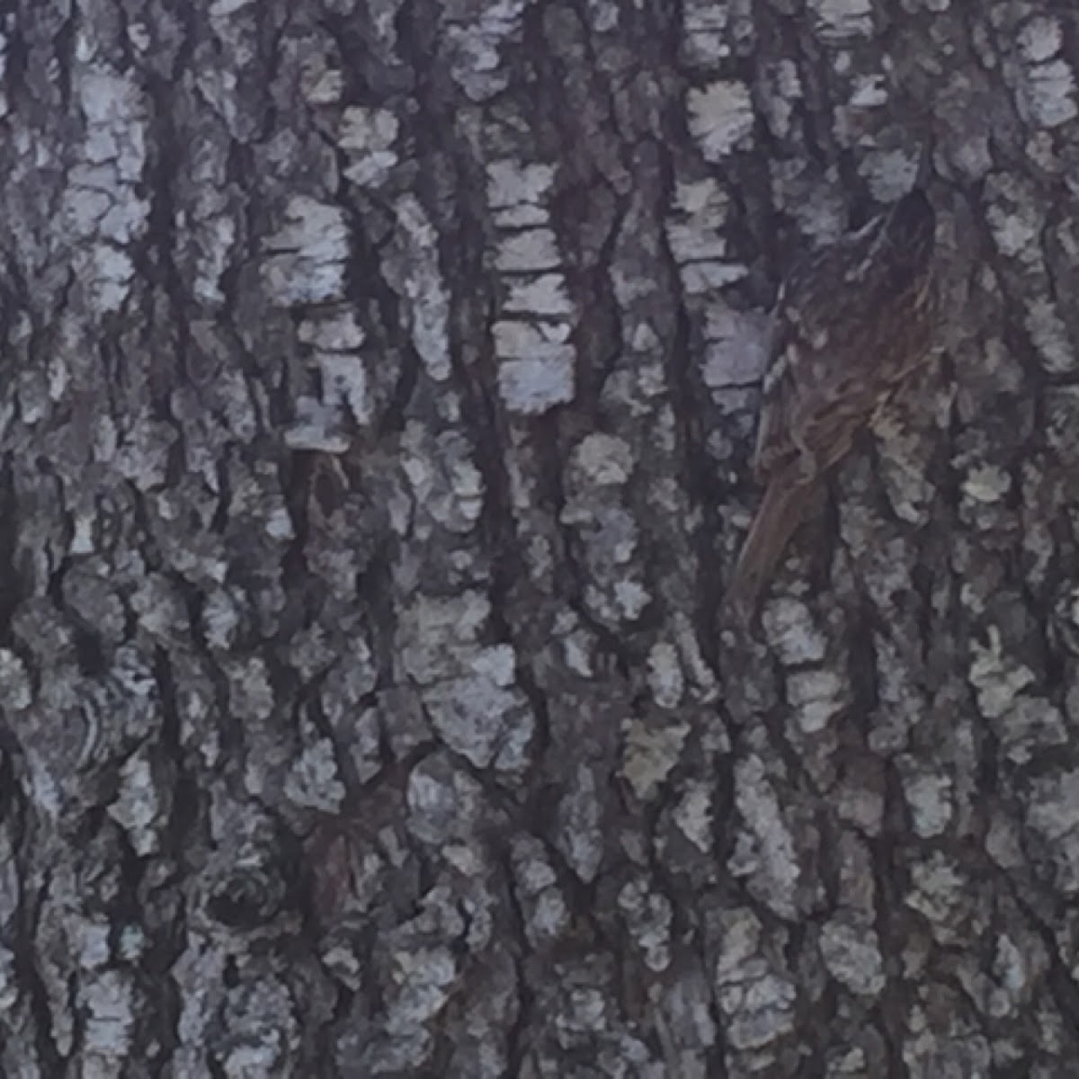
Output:
[[819,481],[929,356],[937,219],[904,195],[805,258],[779,289],[753,470],[765,486],[727,600],[752,616]]

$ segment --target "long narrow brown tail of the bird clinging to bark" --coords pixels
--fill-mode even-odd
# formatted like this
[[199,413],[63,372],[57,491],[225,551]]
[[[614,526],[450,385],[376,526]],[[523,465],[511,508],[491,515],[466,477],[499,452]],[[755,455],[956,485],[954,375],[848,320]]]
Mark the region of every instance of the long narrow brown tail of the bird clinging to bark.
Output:
[[746,623],[755,618],[762,590],[812,502],[817,484],[803,479],[800,468],[771,478],[738,556],[725,603]]

